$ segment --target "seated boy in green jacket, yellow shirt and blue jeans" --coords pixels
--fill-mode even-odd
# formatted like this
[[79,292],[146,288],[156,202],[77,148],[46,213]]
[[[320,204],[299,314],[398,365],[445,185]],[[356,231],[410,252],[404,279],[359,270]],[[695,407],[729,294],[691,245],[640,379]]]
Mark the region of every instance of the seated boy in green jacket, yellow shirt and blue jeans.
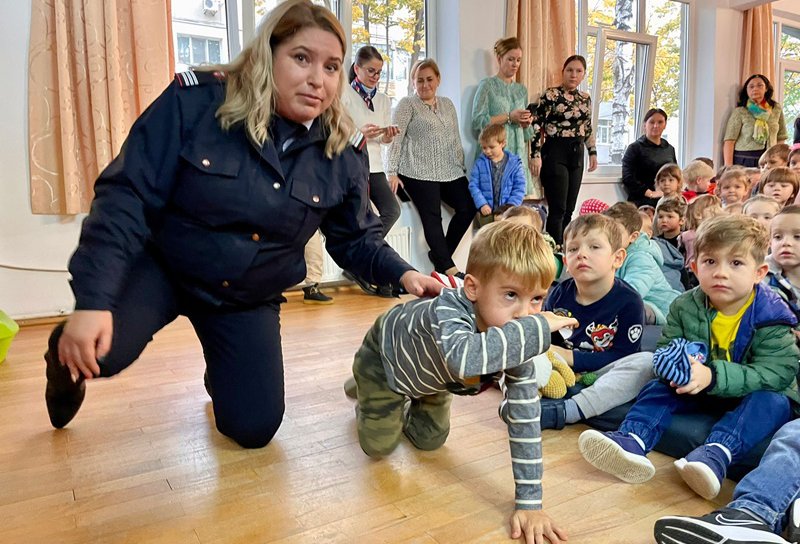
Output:
[[790,399],[800,400],[793,387],[797,319],[760,283],[767,244],[766,229],[750,217],[723,215],[700,226],[692,263],[700,285],[670,308],[653,357],[662,378],[642,389],[618,431],[581,433],[578,447],[589,463],[623,481],[645,482],[655,474],[647,453],[672,414],[710,412],[719,420],[705,444],[675,467],[711,499],[731,462],[789,421]]

